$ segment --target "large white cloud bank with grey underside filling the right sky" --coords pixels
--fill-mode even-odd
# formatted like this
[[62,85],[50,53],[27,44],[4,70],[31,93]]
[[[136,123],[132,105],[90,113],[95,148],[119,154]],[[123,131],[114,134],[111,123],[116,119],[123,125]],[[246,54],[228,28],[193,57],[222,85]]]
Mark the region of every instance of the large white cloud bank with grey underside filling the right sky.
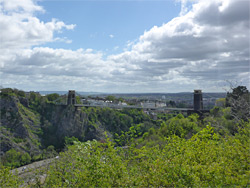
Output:
[[147,80],[149,87],[156,78],[168,84],[179,80],[175,90],[191,90],[191,83],[209,90],[235,79],[249,87],[244,77],[250,67],[249,2],[198,1],[189,12],[146,31],[131,51],[112,58],[137,65],[134,79]]

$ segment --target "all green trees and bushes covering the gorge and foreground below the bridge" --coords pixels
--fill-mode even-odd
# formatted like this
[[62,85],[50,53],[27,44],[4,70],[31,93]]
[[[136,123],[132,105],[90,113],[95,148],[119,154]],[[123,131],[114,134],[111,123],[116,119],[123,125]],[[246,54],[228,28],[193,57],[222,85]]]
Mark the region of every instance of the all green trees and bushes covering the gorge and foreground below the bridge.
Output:
[[[249,187],[247,96],[248,91],[240,87],[218,100],[203,118],[158,113],[157,120],[136,109],[56,109],[39,95],[33,96],[37,102],[30,101],[29,107],[18,104],[18,108],[25,125],[30,121],[42,125],[41,133],[36,133],[44,139],[39,146],[42,152],[31,157],[13,148],[7,151],[2,159],[5,167],[0,167],[0,187],[20,184],[8,167],[55,157],[56,150],[62,151],[65,145],[49,168],[40,169],[41,174],[47,174],[44,182],[37,180],[31,187]],[[237,102],[244,102],[245,111]],[[44,106],[36,108],[38,104]],[[52,122],[57,119],[53,119],[56,110],[63,112],[59,117],[64,120],[82,116],[84,124],[76,136],[55,136],[58,127]],[[39,130],[27,129],[31,134]],[[22,137],[13,140],[16,144],[27,142]]]

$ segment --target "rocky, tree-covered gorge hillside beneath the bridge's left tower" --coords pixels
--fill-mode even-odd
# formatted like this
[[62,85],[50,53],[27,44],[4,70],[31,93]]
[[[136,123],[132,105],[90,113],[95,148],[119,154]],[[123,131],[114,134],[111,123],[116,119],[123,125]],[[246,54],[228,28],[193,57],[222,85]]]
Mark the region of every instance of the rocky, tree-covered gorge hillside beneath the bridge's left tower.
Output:
[[[64,148],[65,139],[104,140],[105,131],[112,137],[135,123],[151,121],[142,111],[75,108],[48,99],[49,95],[2,89],[0,144],[4,164],[18,167],[53,156],[54,150]],[[15,159],[10,158],[24,154],[28,159],[11,162]]]

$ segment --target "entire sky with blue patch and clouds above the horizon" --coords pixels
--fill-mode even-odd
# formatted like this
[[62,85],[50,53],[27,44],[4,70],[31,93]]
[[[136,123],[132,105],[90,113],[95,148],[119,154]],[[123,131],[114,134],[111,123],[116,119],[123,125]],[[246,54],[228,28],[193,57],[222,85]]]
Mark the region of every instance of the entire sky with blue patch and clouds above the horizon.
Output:
[[249,89],[249,8],[250,0],[0,0],[1,86]]

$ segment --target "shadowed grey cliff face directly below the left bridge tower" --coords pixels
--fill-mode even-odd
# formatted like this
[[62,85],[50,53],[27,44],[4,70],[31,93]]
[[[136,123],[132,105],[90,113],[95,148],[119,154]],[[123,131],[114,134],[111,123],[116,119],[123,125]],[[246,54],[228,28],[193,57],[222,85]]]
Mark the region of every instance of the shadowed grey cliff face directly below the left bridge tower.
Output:
[[[47,122],[42,125],[45,133],[48,133],[45,145],[48,145],[49,142],[55,143],[59,147],[66,136],[74,136],[81,141],[104,138],[104,130],[101,126],[95,128],[90,125],[87,114],[81,108],[73,105],[56,106],[51,104],[48,109],[42,117],[44,118],[42,121]],[[52,134],[50,130],[53,130]]]

